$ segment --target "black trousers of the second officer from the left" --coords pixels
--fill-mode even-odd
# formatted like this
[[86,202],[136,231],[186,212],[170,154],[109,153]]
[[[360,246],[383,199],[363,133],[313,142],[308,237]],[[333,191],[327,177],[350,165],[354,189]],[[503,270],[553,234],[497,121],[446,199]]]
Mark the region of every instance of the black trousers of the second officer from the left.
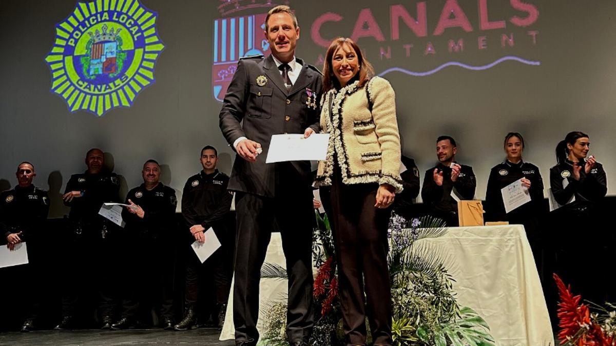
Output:
[[[85,233],[85,232],[84,232]],[[78,306],[94,302],[99,316],[111,316],[116,297],[113,292],[113,269],[117,258],[109,238],[75,237],[63,248],[62,315],[75,316]],[[79,304],[79,305],[78,305]]]

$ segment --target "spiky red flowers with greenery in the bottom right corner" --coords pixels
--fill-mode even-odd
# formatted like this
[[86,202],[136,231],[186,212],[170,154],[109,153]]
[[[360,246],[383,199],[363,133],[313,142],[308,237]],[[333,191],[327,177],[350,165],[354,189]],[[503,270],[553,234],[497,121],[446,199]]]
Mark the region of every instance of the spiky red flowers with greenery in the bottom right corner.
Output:
[[591,302],[588,302],[590,305],[580,303],[582,296],[573,296],[571,285],[565,286],[556,273],[553,277],[560,297],[557,314],[558,326],[561,328],[558,333],[560,344],[615,346],[616,305],[607,303],[606,308]]

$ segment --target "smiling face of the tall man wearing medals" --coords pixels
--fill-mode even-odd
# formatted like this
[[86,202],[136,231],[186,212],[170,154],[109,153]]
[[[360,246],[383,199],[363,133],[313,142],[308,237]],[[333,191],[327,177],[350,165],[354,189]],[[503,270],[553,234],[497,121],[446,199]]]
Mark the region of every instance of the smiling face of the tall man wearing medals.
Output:
[[293,24],[293,18],[286,12],[272,14],[267,21],[265,38],[270,44],[272,54],[279,57],[293,57],[295,44],[299,39],[299,27]]

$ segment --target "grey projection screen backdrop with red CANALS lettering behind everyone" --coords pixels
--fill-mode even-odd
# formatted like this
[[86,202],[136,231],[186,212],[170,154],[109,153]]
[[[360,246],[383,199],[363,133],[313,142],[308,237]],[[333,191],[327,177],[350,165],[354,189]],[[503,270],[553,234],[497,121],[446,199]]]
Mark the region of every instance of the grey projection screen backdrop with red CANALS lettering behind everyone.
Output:
[[[133,1],[99,0],[84,7],[96,10],[94,17],[107,12],[122,23],[126,45],[131,30],[141,33],[141,40],[147,36],[148,28],[140,25],[150,19],[128,27],[120,12],[114,17],[109,11],[127,3],[130,10]],[[0,1],[0,188],[15,184],[20,161],[31,161],[36,184],[51,190],[51,216],[59,217],[66,212],[60,193],[71,174],[85,169],[83,158],[91,147],[107,153],[108,163],[123,176],[123,193],[142,182],[141,165],[149,158],[163,165],[163,182],[181,190],[200,170],[199,150],[206,144],[219,148],[220,168],[229,172],[235,155],[219,131],[218,99],[239,56],[267,52],[261,21],[269,7],[285,1],[267,2],[142,0],[157,13],[149,28],[156,28],[158,43],[164,44],[155,67],[150,56],[145,72],[140,70],[155,82],[131,107],[107,107],[121,102],[122,95],[112,95],[100,107],[113,109],[99,116],[99,104],[92,105],[94,112],[71,113],[73,107],[51,91],[51,63],[45,60],[58,47],[55,25],[73,14],[78,2]],[[436,137],[452,135],[459,143],[458,161],[474,167],[477,198],[484,198],[490,167],[504,158],[503,137],[518,131],[526,139],[525,160],[540,167],[548,185],[556,143],[580,130],[590,134],[591,153],[605,165],[609,185],[616,181],[616,159],[609,150],[616,124],[616,2],[288,2],[301,27],[298,57],[321,67],[327,42],[351,36],[377,73],[391,81],[403,153],[416,159],[422,177],[436,161]],[[87,21],[86,11],[79,11]],[[102,19],[89,22],[92,30]],[[111,49],[105,54],[120,62],[121,52],[111,44],[97,47]],[[82,55],[73,61],[100,58],[94,46],[81,44]],[[95,66],[94,60],[88,63]],[[121,77],[129,66],[116,68]],[[70,99],[70,91],[60,94]]]

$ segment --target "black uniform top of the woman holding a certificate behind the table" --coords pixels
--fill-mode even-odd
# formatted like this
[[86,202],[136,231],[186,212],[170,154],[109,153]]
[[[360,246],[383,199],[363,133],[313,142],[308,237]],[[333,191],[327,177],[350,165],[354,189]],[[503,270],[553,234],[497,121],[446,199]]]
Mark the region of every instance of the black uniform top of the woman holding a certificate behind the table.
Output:
[[[506,213],[501,188],[522,178],[530,180],[529,193],[531,201]],[[540,214],[542,202],[543,179],[541,179],[537,166],[524,161],[516,164],[505,160],[503,163],[492,167],[490,177],[488,178],[488,186],[485,190],[486,220],[522,222],[524,219]]]

